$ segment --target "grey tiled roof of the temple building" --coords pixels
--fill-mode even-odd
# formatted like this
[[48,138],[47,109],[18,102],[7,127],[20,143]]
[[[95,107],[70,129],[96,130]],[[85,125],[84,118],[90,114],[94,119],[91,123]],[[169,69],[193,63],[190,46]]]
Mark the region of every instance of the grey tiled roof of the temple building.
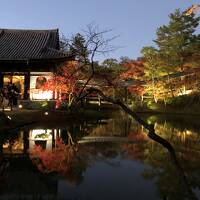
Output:
[[59,51],[58,29],[0,29],[0,60],[64,58]]

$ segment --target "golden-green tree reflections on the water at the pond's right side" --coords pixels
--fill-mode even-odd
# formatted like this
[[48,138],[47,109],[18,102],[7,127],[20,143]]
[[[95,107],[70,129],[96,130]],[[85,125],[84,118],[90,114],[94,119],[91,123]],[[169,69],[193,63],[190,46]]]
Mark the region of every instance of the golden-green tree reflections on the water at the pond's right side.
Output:
[[[153,118],[151,117],[151,119]],[[171,150],[167,148],[174,165],[169,162],[166,149],[155,144],[153,151],[148,153],[150,156],[146,157],[146,162],[152,166],[152,169],[147,170],[146,172],[149,173],[145,172],[144,174],[145,177],[154,178],[161,194],[168,194],[170,199],[195,199],[192,192],[200,190],[200,136],[197,129],[199,122],[194,117],[178,121],[180,116],[173,116],[172,119],[168,120],[166,116],[164,118],[154,117],[153,121],[156,132],[173,144],[176,149],[175,154],[173,148]],[[154,140],[154,138],[152,139]],[[188,197],[188,195],[191,196]]]

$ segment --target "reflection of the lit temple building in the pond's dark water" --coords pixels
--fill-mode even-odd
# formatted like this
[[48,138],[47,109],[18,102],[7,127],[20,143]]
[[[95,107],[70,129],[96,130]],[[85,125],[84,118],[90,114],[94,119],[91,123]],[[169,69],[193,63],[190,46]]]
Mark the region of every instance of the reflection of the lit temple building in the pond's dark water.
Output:
[[58,180],[37,172],[27,154],[37,141],[46,141],[46,149],[52,149],[57,136],[61,136],[60,129],[31,129],[12,133],[1,141],[0,156],[6,158],[9,167],[4,188],[0,185],[0,199],[57,199]]

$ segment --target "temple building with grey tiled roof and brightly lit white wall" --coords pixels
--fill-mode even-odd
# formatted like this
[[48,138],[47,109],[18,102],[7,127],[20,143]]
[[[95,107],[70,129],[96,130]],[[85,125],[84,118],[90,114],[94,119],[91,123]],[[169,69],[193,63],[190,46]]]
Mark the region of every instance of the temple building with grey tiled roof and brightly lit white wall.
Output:
[[0,29],[0,88],[14,83],[22,99],[52,99],[53,92],[41,86],[69,59],[60,51],[58,29]]

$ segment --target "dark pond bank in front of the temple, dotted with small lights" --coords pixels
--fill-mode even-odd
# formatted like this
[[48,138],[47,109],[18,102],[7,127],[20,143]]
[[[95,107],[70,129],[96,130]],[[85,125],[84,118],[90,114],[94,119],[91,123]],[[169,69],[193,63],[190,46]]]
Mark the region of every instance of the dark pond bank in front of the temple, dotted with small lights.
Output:
[[110,116],[106,110],[80,110],[70,112],[64,110],[25,110],[15,109],[4,112],[5,116],[0,117],[0,132],[13,131],[31,124],[61,124],[69,121],[98,120],[106,119]]

